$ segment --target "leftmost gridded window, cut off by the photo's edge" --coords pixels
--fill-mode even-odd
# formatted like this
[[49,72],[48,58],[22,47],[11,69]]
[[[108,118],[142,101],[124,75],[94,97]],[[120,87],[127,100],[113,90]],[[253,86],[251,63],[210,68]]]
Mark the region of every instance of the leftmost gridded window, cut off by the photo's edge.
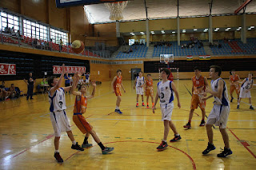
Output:
[[7,14],[5,12],[0,12],[0,29],[5,31],[6,28],[13,28],[17,32],[19,30],[19,18],[13,14]]

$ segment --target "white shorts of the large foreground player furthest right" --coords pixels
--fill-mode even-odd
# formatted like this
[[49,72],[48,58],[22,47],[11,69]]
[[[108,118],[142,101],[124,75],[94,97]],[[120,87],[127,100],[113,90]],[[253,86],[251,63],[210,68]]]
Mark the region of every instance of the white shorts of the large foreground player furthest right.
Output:
[[219,128],[226,128],[227,120],[230,115],[230,106],[214,105],[210,111],[206,124],[216,125]]

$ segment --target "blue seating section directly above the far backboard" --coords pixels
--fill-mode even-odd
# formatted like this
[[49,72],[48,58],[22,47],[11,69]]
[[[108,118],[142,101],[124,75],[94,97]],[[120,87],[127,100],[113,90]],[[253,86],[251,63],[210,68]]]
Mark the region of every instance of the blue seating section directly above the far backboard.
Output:
[[[190,41],[182,41],[182,44],[189,44]],[[181,46],[178,46],[178,42],[171,42],[171,46],[165,46],[165,45],[158,45],[157,47],[154,47],[153,57],[159,57],[160,54],[165,53],[172,53],[174,56],[188,56],[188,55],[206,55],[205,49],[203,46],[198,49],[200,46],[198,43],[194,44],[193,48],[181,48]]]

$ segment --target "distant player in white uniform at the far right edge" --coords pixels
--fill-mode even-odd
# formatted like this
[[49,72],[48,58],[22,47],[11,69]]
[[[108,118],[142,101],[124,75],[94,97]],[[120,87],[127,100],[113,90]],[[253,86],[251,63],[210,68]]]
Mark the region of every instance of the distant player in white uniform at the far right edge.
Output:
[[249,98],[250,109],[254,110],[253,105],[251,105],[251,96],[250,96],[250,89],[253,88],[253,85],[254,85],[253,74],[249,73],[248,77],[242,81],[237,109],[239,109],[242,98]]

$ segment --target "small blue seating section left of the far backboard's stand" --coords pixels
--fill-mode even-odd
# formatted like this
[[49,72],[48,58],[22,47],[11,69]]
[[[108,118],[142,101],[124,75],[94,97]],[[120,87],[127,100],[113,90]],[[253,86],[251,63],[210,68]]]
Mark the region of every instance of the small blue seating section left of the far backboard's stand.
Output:
[[132,49],[132,51],[129,53],[120,51],[117,58],[146,57],[148,47],[146,47],[146,45],[131,45],[130,49]]

